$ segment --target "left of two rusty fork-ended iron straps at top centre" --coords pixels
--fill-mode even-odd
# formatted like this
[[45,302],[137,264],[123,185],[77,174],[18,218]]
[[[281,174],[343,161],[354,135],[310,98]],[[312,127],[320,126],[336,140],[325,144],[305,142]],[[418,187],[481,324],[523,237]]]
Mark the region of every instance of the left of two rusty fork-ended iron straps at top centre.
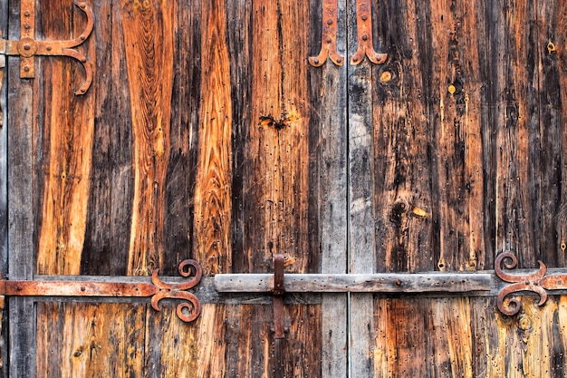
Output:
[[344,63],[344,58],[337,52],[337,3],[338,0],[322,2],[321,52],[309,58],[313,67],[321,67],[327,62],[327,58],[339,66]]

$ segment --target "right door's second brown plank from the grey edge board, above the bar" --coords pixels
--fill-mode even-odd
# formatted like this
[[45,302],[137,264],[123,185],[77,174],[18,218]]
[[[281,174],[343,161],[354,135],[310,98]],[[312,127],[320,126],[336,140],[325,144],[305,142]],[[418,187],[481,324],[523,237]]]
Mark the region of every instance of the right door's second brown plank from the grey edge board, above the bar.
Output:
[[483,15],[476,8],[474,2],[430,1],[427,16],[431,32],[421,40],[431,44],[423,73],[431,76],[433,88],[424,100],[435,151],[431,153],[431,191],[438,225],[437,267],[441,271],[476,270],[478,257],[484,267],[484,162],[482,125],[477,116],[478,88],[482,86],[478,39],[482,35],[476,32]]

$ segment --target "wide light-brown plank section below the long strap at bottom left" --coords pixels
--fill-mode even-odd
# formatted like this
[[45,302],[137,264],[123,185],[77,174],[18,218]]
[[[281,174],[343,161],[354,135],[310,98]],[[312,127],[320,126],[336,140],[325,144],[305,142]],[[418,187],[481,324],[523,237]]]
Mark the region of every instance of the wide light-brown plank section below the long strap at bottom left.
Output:
[[146,308],[38,304],[37,376],[141,376]]

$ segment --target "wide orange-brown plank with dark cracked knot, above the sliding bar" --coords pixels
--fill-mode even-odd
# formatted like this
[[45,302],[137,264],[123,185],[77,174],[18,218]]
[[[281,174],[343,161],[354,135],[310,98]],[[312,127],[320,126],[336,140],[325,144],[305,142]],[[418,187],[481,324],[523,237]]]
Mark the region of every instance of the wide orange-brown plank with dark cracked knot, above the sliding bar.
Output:
[[318,206],[309,203],[310,190],[317,188],[309,182],[310,159],[317,159],[317,146],[309,145],[316,111],[309,104],[305,63],[309,12],[309,2],[301,1],[254,3],[251,10],[251,116],[243,183],[250,272],[271,271],[275,253],[286,254],[288,271],[319,269],[318,244],[310,243],[310,229],[319,225],[310,224],[309,209]]

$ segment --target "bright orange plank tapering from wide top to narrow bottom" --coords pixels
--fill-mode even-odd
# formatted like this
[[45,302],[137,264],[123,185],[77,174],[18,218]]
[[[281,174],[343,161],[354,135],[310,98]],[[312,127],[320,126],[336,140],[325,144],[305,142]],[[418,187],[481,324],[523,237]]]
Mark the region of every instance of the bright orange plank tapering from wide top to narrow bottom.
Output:
[[147,275],[165,253],[166,175],[170,149],[173,85],[173,24],[177,6],[123,0],[132,114],[134,199],[129,275]]

